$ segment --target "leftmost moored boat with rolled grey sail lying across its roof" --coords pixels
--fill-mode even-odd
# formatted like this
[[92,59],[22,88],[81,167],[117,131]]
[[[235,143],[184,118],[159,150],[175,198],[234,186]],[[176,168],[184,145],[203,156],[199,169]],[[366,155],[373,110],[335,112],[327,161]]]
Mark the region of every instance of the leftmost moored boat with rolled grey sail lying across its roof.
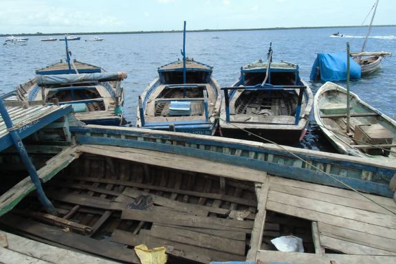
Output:
[[[17,100],[72,104],[76,118],[86,124],[118,126],[123,120],[125,72],[72,61],[62,61],[36,70],[36,76],[17,87]],[[5,98],[5,96],[3,96]]]

